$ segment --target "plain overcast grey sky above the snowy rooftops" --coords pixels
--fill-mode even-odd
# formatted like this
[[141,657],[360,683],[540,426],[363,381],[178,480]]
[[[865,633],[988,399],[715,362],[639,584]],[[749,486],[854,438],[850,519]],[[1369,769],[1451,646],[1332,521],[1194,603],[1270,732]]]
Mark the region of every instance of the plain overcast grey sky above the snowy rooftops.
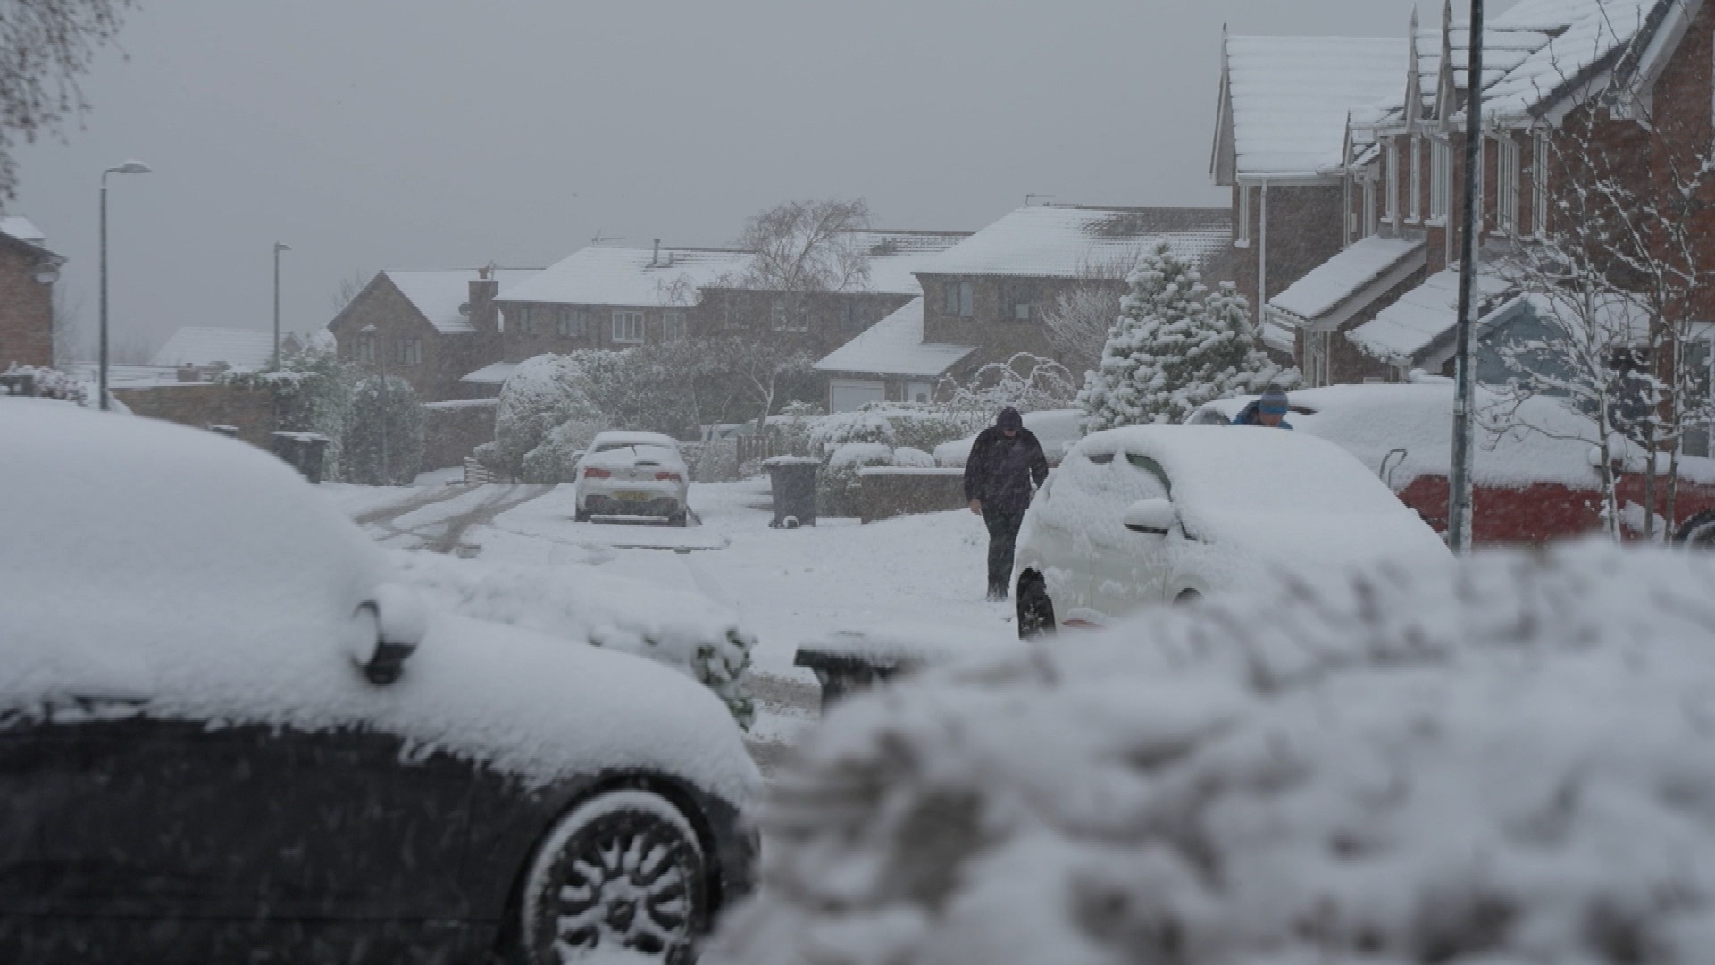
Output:
[[[1401,36],[1410,0],[142,0],[12,211],[115,338],[321,328],[340,278],[545,266],[597,232],[724,244],[787,197],[979,228],[1027,192],[1221,204],[1221,24]],[[1511,2],[1499,3],[1501,9]],[[1425,15],[1434,17],[1429,3]]]

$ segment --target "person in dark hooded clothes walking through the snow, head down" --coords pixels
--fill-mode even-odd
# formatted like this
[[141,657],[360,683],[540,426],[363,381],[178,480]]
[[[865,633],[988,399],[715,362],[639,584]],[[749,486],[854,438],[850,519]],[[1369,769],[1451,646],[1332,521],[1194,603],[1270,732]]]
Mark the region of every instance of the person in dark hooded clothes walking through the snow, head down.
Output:
[[1007,599],[1012,551],[1031,493],[1048,479],[1048,457],[1017,409],[1007,407],[971,445],[966,498],[988,525],[988,599]]

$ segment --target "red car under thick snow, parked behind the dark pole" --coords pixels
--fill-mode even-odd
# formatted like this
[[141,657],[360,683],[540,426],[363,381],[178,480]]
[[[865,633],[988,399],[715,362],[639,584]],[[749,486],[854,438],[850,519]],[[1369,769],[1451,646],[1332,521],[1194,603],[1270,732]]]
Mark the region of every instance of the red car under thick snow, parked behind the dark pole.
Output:
[[[1228,422],[1250,398],[1223,398],[1188,422]],[[1588,419],[1552,398],[1530,400],[1513,428],[1495,434],[1494,397],[1478,393],[1477,544],[1542,544],[1602,529],[1602,479]],[[1334,441],[1386,481],[1399,500],[1447,529],[1447,467],[1453,464],[1453,385],[1331,385],[1291,393],[1295,431]],[[1619,507],[1626,539],[1643,537],[1643,460],[1621,465]],[[1667,481],[1657,476],[1657,513],[1667,508]],[[1715,460],[1682,457],[1679,493],[1667,532],[1676,543],[1715,548]]]

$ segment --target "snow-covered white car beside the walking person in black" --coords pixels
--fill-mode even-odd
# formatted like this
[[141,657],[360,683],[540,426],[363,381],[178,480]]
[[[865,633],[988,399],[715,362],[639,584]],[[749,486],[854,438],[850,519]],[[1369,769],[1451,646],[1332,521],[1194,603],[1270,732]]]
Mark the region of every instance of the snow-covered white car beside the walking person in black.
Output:
[[1106,429],[1072,446],[1024,513],[1019,634],[1382,558],[1425,567],[1451,555],[1333,443],[1252,428]]

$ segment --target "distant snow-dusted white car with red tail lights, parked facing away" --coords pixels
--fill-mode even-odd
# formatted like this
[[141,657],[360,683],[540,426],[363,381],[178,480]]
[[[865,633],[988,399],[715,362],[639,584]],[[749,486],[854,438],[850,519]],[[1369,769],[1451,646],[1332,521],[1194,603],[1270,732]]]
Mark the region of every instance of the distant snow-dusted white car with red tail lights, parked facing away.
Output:
[[660,433],[600,433],[576,465],[578,522],[659,517],[686,525],[691,470],[679,443]]

